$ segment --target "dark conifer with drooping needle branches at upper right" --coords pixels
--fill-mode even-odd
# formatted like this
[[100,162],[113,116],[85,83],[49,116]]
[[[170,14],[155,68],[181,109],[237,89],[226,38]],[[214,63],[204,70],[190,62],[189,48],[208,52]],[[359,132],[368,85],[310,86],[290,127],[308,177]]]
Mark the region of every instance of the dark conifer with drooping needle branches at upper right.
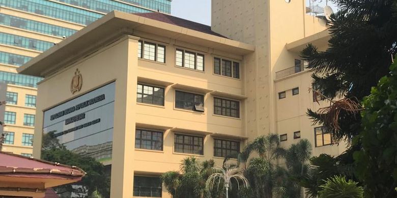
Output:
[[[333,0],[341,10],[331,15],[329,48],[308,45],[302,58],[313,71],[313,83],[329,98],[346,97],[361,102],[371,87],[388,73],[391,54],[397,49],[395,0]],[[327,126],[325,115],[308,110],[315,122]],[[326,127],[335,143],[358,134],[361,117],[338,114],[339,129]]]

